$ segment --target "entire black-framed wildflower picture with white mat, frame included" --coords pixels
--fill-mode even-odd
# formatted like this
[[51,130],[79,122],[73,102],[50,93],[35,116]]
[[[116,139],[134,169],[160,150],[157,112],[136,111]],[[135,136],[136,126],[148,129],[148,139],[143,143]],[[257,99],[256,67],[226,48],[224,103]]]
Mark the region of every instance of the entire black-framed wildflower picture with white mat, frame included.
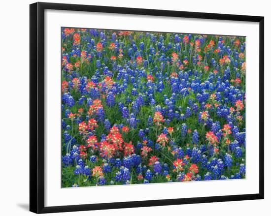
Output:
[[31,4],[30,100],[34,213],[264,198],[264,17]]

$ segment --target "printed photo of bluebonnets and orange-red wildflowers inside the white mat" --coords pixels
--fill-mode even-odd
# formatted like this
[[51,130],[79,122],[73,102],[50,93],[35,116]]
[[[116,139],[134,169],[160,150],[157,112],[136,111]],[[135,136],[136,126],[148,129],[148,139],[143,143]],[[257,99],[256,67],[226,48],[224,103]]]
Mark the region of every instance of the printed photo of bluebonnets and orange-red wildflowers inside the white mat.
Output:
[[62,187],[245,178],[245,37],[61,37]]

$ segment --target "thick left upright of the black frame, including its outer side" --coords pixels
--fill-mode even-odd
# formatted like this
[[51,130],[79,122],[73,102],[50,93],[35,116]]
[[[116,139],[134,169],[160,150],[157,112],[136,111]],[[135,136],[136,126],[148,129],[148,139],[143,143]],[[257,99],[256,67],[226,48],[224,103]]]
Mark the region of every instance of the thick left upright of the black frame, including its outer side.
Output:
[[30,211],[44,209],[44,5],[30,4]]

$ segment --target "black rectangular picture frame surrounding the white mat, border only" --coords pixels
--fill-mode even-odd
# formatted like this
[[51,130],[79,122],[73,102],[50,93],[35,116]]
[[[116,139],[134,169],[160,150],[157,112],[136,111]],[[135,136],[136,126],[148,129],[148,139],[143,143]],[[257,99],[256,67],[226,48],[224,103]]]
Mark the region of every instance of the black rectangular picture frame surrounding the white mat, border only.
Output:
[[[260,140],[259,193],[118,203],[44,207],[44,10],[70,10],[259,23]],[[161,205],[264,199],[264,17],[139,8],[37,2],[30,5],[30,211],[71,212]]]

